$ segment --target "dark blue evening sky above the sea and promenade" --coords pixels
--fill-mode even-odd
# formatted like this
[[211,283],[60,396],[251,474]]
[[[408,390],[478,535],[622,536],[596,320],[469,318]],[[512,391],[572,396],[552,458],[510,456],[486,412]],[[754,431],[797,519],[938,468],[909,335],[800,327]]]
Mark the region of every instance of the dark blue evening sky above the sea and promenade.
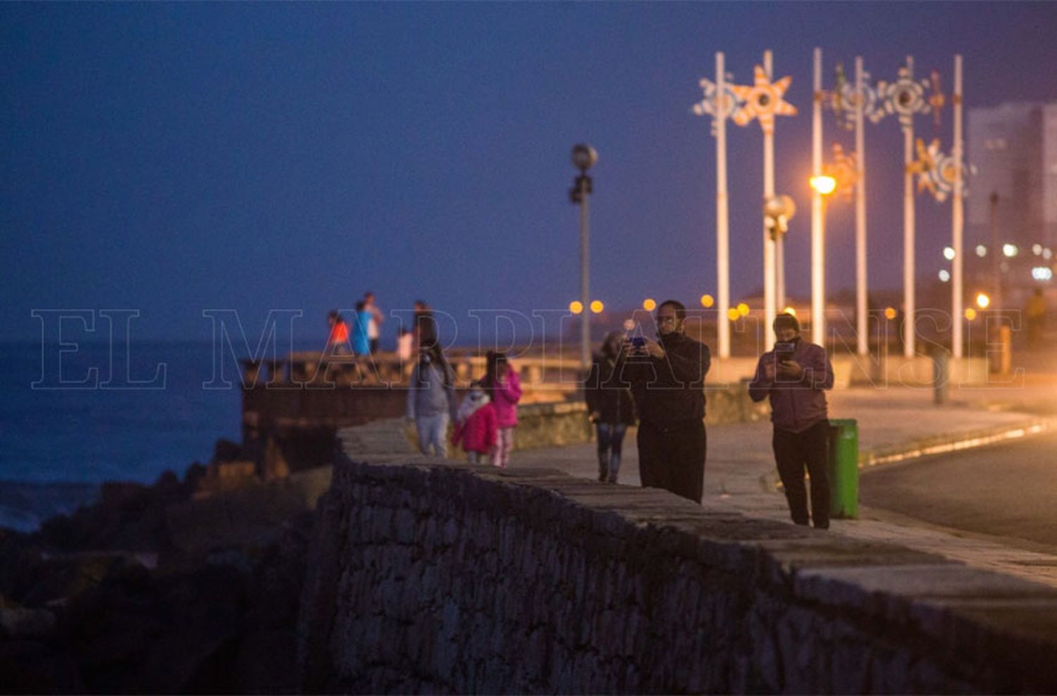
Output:
[[[689,109],[718,50],[739,82],[767,48],[793,76],[777,189],[800,204],[805,295],[812,48],[828,82],[856,53],[875,78],[912,53],[945,88],[961,52],[971,107],[1057,96],[1054,26],[1057,3],[3,4],[0,340],[39,339],[34,308],[136,308],[135,337],[162,339],[208,339],[203,309],[253,332],[300,308],[311,336],[368,288],[386,309],[564,307],[580,140],[600,154],[592,294],[715,291],[715,147]],[[902,136],[886,119],[867,138],[870,279],[896,287]],[[754,123],[729,140],[737,300],[761,282],[762,138]],[[847,207],[831,293],[853,282]],[[923,279],[949,215],[919,199]]]

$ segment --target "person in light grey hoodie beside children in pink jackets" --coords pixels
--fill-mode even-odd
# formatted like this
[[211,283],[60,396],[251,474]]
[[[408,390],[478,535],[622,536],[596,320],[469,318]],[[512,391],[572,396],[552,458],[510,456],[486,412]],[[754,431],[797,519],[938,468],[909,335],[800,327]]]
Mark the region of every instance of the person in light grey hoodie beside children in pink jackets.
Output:
[[448,455],[448,422],[455,416],[455,373],[441,346],[423,346],[407,390],[407,419],[419,431],[419,449],[439,457]]

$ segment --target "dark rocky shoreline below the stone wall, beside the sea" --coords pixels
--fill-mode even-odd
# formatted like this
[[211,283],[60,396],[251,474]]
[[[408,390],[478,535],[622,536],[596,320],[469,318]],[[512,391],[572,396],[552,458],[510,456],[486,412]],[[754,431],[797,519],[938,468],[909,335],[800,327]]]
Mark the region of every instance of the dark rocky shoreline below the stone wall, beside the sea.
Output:
[[0,529],[8,693],[293,693],[316,499],[330,469],[263,481],[234,443],[208,466],[33,533]]

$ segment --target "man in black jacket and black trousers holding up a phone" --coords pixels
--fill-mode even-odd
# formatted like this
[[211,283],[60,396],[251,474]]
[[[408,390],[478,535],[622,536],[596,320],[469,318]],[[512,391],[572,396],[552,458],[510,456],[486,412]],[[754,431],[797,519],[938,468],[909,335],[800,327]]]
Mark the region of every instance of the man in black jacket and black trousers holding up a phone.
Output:
[[705,478],[705,373],[708,346],[684,333],[686,307],[657,307],[657,340],[627,340],[620,376],[638,411],[638,473],[643,486],[701,502]]

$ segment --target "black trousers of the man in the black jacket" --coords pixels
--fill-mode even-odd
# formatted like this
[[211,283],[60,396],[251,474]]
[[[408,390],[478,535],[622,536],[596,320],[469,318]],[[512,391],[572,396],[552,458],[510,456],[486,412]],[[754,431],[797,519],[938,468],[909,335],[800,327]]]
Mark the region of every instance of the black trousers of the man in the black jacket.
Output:
[[643,486],[664,488],[701,502],[708,439],[703,420],[638,426],[638,475]]

